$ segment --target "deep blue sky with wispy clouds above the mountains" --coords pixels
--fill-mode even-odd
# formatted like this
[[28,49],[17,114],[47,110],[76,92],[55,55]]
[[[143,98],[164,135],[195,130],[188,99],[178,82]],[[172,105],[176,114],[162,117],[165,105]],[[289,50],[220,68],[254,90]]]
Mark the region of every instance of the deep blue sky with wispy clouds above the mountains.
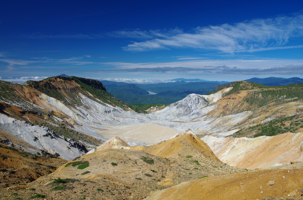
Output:
[[[303,78],[303,1],[6,1],[0,77]],[[20,79],[20,80],[17,80]]]

